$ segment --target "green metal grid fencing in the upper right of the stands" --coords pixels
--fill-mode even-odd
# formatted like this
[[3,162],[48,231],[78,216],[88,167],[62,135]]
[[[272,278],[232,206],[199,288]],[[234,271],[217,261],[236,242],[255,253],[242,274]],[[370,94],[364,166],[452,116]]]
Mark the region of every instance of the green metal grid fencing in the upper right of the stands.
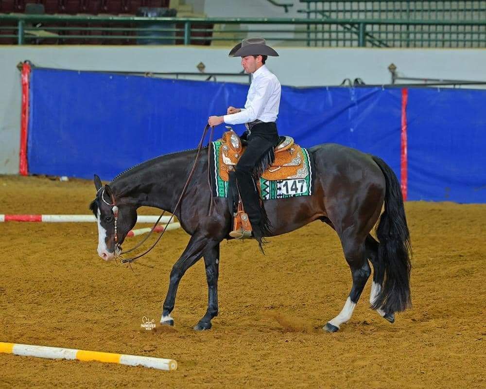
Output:
[[[372,19],[433,21],[433,24],[399,23],[381,24],[365,31],[367,42],[377,47],[485,47],[484,22],[486,0],[300,0],[305,9],[297,12],[314,20]],[[476,20],[477,25],[441,25],[436,22]],[[356,25],[339,25],[343,36],[360,35]],[[309,25],[309,36],[318,38],[332,35],[333,27],[323,24]],[[347,33],[347,34],[345,34]],[[390,39],[394,37],[394,39]],[[312,46],[327,45],[326,40],[312,41]]]

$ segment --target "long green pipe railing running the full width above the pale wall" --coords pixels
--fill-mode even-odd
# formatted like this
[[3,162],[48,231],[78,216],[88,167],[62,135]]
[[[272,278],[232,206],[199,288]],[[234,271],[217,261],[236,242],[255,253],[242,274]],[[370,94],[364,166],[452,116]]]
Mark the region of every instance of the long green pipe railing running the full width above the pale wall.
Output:
[[[227,29],[227,26],[233,27]],[[228,41],[230,45],[246,36],[264,36],[273,44],[307,46],[486,47],[486,20],[141,18],[0,14],[0,43],[2,38],[15,38],[19,45],[189,45],[210,44],[214,41]]]

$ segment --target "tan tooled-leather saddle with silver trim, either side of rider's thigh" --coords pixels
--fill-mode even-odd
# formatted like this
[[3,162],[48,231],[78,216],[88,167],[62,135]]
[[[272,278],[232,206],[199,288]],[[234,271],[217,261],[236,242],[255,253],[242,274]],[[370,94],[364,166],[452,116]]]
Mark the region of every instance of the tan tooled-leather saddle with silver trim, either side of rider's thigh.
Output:
[[[291,137],[280,137],[281,141],[275,147],[275,160],[263,172],[262,178],[268,181],[305,178],[309,175],[308,164],[305,163],[302,148],[294,143]],[[219,176],[228,181],[228,172],[234,171],[235,165],[244,153],[240,137],[234,132],[226,131],[219,149]]]

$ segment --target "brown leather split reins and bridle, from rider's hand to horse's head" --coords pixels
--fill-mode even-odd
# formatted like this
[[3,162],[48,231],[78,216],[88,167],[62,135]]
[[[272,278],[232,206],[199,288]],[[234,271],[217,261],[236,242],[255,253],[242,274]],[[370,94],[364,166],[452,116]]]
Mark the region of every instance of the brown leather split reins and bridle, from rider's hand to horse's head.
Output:
[[122,251],[121,253],[117,254],[116,253],[117,252],[116,248],[120,248],[120,246],[118,245],[118,231],[117,231],[118,212],[119,212],[118,211],[118,206],[116,205],[116,200],[115,200],[115,196],[113,195],[113,193],[111,195],[111,202],[112,203],[111,204],[108,204],[108,202],[104,199],[104,188],[103,188],[103,193],[101,195],[101,198],[102,198],[102,200],[106,204],[108,204],[110,207],[112,207],[113,215],[115,217],[115,237],[114,237],[114,241],[115,241],[115,255],[116,255],[116,258],[121,258],[121,263],[122,264],[131,264],[132,262],[135,262],[139,258],[143,257],[145,254],[148,254],[154,247],[156,247],[157,243],[160,241],[160,239],[164,235],[164,232],[166,231],[167,226],[169,225],[169,223],[174,218],[174,214],[175,214],[175,212],[177,212],[177,209],[180,207],[180,204],[182,202],[182,198],[184,197],[184,195],[186,193],[186,190],[187,190],[187,188],[189,186],[189,183],[191,182],[191,178],[194,175],[194,172],[196,170],[197,161],[199,160],[199,156],[200,156],[200,153],[201,153],[201,149],[203,148],[203,141],[206,138],[206,135],[208,134],[208,129],[209,128],[211,128],[211,131],[209,132],[209,142],[208,142],[208,184],[209,184],[209,193],[211,194],[211,200],[210,200],[210,204],[209,204],[209,213],[211,212],[212,203],[213,203],[213,196],[212,196],[212,190],[211,190],[211,177],[210,177],[210,169],[209,169],[209,160],[210,160],[210,152],[211,152],[210,151],[211,150],[211,141],[212,141],[212,137],[213,137],[213,133],[214,133],[214,126],[209,127],[209,124],[206,124],[206,127],[204,128],[204,131],[203,131],[203,135],[201,137],[201,140],[199,141],[199,144],[197,145],[197,153],[196,153],[196,158],[194,159],[194,164],[192,165],[192,169],[191,169],[191,172],[189,173],[189,177],[187,178],[187,181],[184,184],[184,188],[182,189],[181,195],[179,196],[179,199],[177,200],[177,204],[175,205],[174,212],[172,212],[171,217],[169,218],[169,221],[165,225],[164,230],[162,230],[162,232],[160,233],[160,236],[157,238],[157,240],[155,241],[155,243],[152,245],[151,248],[149,248],[148,250],[146,250],[144,253],[139,254],[139,255],[137,255],[137,256],[135,256],[133,258],[123,258],[121,256],[123,254],[127,254],[129,252],[132,252],[132,251],[136,250],[143,243],[145,243],[145,241],[152,235],[152,233],[156,229],[157,224],[159,223],[160,219],[164,215],[165,211],[162,212],[162,214],[158,217],[157,221],[154,224],[154,227],[152,227],[152,230],[150,230],[150,232],[148,233],[148,235],[139,244],[137,244],[133,248],[130,248],[130,249],[126,250],[126,251]]

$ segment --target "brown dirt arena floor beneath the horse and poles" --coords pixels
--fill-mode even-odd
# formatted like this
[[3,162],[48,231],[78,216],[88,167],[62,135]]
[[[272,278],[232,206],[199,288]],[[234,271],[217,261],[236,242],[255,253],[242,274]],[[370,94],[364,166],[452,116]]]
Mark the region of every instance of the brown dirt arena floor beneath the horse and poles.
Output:
[[[1,177],[0,213],[88,213],[92,182]],[[369,309],[321,330],[351,278],[335,235],[314,222],[255,242],[223,242],[220,313],[194,332],[207,285],[183,278],[174,328],[158,322],[187,244],[170,231],[134,272],[97,253],[96,224],[0,224],[0,341],[174,358],[175,372],[0,354],[0,388],[486,388],[486,205],[409,202],[413,309],[390,324]],[[154,214],[150,209],[141,213]],[[132,238],[130,245],[138,238]]]

